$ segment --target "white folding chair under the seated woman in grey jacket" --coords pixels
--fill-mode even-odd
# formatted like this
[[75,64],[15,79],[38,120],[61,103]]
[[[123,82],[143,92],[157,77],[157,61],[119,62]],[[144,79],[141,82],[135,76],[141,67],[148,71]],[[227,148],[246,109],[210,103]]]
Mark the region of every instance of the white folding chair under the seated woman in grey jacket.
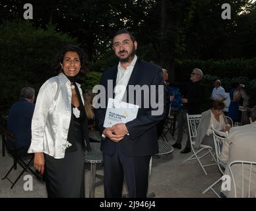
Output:
[[[199,162],[203,171],[207,175],[207,171],[205,170],[205,167],[216,165],[216,159],[214,158],[214,155],[212,154],[213,148],[211,146],[201,144],[199,150],[195,151],[195,149],[194,149],[195,142],[193,141],[193,138],[195,138],[195,136],[197,136],[197,129],[199,127],[200,121],[201,121],[201,114],[199,114],[199,115],[189,115],[189,114],[187,114],[187,124],[188,124],[188,127],[189,127],[189,139],[190,139],[190,142],[191,142],[191,150],[193,152],[193,155],[190,156],[189,158],[187,158],[187,160],[185,160],[183,162],[183,164],[185,162],[187,162],[188,160],[197,160],[197,162]],[[205,151],[207,151],[207,152],[205,152]],[[201,154],[202,152],[205,152],[205,154],[199,156],[199,154]],[[201,163],[200,159],[205,157],[207,154],[210,154],[212,156],[212,158],[215,161],[214,164],[203,165]]]

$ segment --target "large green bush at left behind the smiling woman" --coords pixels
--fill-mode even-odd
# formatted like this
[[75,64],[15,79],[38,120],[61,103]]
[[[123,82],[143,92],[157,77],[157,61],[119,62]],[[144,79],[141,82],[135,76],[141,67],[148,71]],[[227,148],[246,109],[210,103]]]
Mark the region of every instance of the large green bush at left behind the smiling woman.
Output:
[[53,57],[67,44],[76,40],[55,32],[52,25],[42,30],[28,21],[5,22],[0,29],[0,104],[18,100],[24,86],[32,86],[37,93],[53,76]]

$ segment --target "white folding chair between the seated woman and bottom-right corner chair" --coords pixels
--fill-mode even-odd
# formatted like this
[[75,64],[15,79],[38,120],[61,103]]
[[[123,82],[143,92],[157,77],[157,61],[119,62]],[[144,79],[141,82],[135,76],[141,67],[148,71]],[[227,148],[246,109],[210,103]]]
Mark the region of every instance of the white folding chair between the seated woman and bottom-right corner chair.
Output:
[[[217,131],[212,126],[212,136],[213,136],[213,141],[214,141],[214,149],[215,149],[215,156],[216,156],[218,169],[220,170],[220,173],[222,175],[224,175],[223,170],[225,169],[226,164],[224,164],[223,162],[220,162],[220,153],[221,153],[222,145],[224,143],[224,139],[228,136],[228,131],[226,133]],[[203,191],[203,194],[207,193],[208,190],[212,190],[213,193],[215,193],[215,195],[218,196],[218,198],[220,198],[220,195],[218,195],[218,193],[216,193],[216,191],[213,189],[213,187],[215,185],[217,185],[218,183],[220,183],[220,181],[222,181],[222,177],[220,177],[218,180],[214,181],[214,183],[212,183],[212,185],[207,187],[207,189],[205,189],[205,191]]]

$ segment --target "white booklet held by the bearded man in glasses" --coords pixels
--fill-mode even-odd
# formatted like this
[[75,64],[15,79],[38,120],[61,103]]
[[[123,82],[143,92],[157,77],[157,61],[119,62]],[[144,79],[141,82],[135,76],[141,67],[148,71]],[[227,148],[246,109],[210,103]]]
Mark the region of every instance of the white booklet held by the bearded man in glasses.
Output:
[[104,120],[104,127],[112,127],[117,123],[127,123],[137,117],[139,106],[119,102],[109,98]]

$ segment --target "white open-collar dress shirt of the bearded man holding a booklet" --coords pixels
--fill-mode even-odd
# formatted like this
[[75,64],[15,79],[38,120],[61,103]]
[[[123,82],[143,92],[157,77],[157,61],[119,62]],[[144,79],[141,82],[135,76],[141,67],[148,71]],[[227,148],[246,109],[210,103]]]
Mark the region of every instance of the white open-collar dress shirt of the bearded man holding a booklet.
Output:
[[123,69],[121,67],[121,63],[119,62],[117,67],[117,78],[115,83],[115,100],[118,100],[121,102],[123,99],[123,94],[125,94],[126,86],[129,82],[129,79],[131,77],[131,73],[133,73],[133,68],[135,66],[135,63],[137,61],[137,55],[133,58],[133,61],[129,66],[127,66],[126,69]]

